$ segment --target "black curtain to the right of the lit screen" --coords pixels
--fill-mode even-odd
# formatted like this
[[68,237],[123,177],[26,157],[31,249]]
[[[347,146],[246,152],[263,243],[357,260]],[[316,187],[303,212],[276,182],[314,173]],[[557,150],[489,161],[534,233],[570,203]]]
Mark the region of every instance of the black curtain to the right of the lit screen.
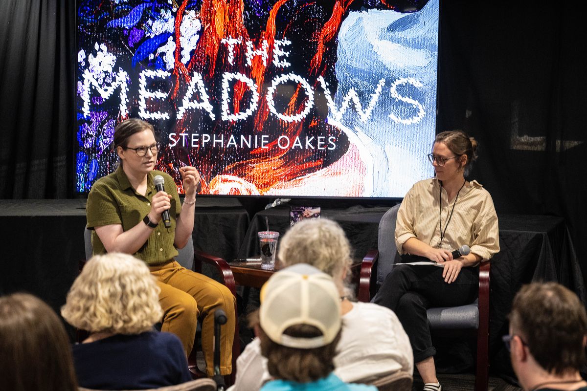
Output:
[[548,5],[441,2],[437,130],[480,142],[498,215],[564,217],[585,277],[587,23]]

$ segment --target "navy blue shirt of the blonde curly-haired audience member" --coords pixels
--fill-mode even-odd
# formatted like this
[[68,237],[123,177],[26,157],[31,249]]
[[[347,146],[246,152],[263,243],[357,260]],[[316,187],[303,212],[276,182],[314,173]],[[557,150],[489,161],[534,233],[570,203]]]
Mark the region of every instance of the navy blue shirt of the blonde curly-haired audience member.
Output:
[[80,387],[132,390],[173,386],[191,380],[183,346],[168,332],[117,334],[73,345]]

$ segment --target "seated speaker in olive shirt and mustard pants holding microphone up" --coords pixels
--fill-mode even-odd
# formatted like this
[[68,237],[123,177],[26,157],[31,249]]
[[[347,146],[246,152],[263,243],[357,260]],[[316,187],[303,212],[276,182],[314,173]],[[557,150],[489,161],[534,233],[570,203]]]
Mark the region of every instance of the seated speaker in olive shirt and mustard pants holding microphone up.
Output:
[[[194,345],[197,318],[202,322],[202,349],[207,375],[214,375],[214,311],[228,317],[221,336],[222,375],[232,372],[235,298],[224,285],[181,267],[174,258],[188,243],[194,228],[194,205],[200,174],[182,167],[185,199],[181,205],[176,183],[170,175],[156,171],[159,151],[153,125],[130,118],[114,129],[114,148],[119,167],[94,183],[87,198],[87,227],[93,230],[93,253],[132,254],[145,261],[156,277],[163,308],[162,331],[176,334],[189,356]],[[156,191],[153,178],[164,178],[165,191]],[[168,210],[171,226],[161,222]]]

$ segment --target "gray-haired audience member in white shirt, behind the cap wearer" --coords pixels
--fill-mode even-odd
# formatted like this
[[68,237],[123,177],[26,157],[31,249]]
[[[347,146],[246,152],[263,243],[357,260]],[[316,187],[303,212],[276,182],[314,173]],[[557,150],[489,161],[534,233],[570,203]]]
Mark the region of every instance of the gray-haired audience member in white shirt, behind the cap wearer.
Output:
[[[377,304],[353,302],[346,284],[352,264],[349,240],[332,220],[309,219],[285,233],[278,263],[307,263],[332,277],[340,296],[342,332],[334,357],[334,374],[343,382],[370,382],[403,370],[413,372],[410,341],[393,311]],[[368,331],[368,332],[366,332]],[[373,344],[373,336],[377,344]],[[237,359],[237,378],[230,390],[255,391],[271,379],[259,338]]]

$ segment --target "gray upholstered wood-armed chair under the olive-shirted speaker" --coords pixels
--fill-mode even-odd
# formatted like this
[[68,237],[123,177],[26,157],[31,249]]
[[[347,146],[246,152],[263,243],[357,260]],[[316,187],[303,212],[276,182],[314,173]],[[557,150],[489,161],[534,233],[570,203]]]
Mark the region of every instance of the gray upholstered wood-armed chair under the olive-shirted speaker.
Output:
[[[86,260],[89,260],[92,257],[92,231],[87,229],[86,227],[83,233],[83,237],[86,247]],[[214,257],[210,254],[203,253],[202,251],[194,250],[194,240],[191,236],[190,239],[188,239],[188,242],[185,245],[185,247],[183,249],[178,249],[178,252],[179,254],[176,257],[177,263],[187,268],[188,270],[193,270],[197,273],[202,273],[203,263],[207,263],[213,266],[218,271],[218,274],[220,274],[220,282],[226,285],[228,289],[230,289],[234,297],[237,297],[237,288],[234,282],[234,276],[232,275],[232,271],[230,270],[230,266],[228,266],[227,261],[225,261],[222,258]],[[85,261],[80,262],[80,271],[82,271],[83,265],[85,265]],[[234,308],[234,313],[238,314],[236,305]],[[200,327],[198,325],[198,329],[199,328]],[[78,332],[78,340],[83,339],[83,335],[83,333]],[[232,383],[234,383],[237,368],[237,358],[240,353],[241,342],[238,336],[238,327],[235,327],[234,343],[232,344],[232,375],[227,376],[227,385],[231,385]],[[191,369],[194,370],[197,370],[198,368],[196,355],[197,349],[193,349],[193,351],[187,359],[188,365]],[[204,374],[202,374],[202,376],[204,376]]]

